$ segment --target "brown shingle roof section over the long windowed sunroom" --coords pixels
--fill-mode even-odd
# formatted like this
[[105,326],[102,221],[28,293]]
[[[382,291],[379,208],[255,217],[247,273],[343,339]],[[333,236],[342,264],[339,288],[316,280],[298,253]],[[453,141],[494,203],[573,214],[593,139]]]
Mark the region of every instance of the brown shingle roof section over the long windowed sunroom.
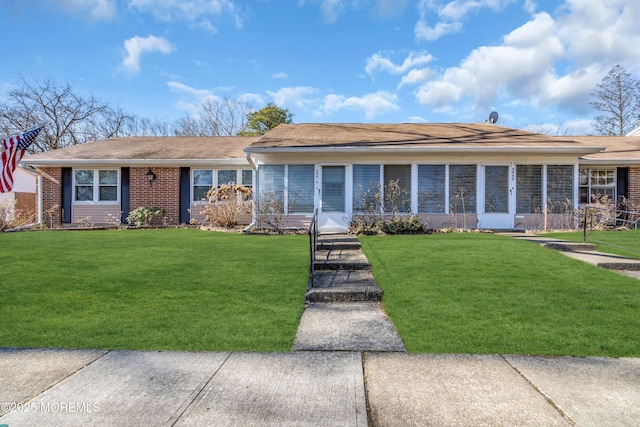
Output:
[[[597,144],[596,144],[597,145]],[[310,148],[583,148],[558,138],[493,124],[282,124],[253,142],[247,151]],[[280,150],[280,151],[281,151]],[[279,151],[279,150],[276,150]]]

